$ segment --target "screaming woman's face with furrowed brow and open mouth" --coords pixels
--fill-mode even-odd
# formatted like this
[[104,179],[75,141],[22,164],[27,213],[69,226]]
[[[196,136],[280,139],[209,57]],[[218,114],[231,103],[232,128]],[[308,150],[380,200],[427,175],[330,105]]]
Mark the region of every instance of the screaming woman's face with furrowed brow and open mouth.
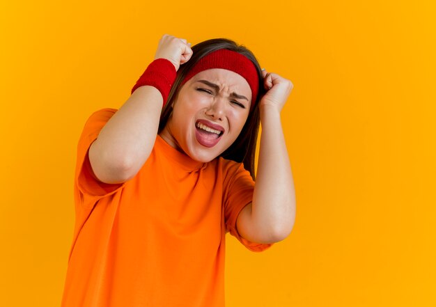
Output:
[[159,135],[192,159],[210,162],[238,138],[250,104],[251,88],[240,74],[221,68],[203,70],[180,88]]

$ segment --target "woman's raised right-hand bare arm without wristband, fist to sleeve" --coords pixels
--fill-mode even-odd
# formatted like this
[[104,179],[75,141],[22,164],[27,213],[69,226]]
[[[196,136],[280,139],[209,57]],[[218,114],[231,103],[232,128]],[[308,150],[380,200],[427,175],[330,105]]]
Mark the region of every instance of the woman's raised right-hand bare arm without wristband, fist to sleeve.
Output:
[[278,74],[263,72],[265,88],[260,100],[260,150],[253,202],[240,212],[238,232],[258,243],[285,239],[295,222],[295,189],[280,112],[293,84]]

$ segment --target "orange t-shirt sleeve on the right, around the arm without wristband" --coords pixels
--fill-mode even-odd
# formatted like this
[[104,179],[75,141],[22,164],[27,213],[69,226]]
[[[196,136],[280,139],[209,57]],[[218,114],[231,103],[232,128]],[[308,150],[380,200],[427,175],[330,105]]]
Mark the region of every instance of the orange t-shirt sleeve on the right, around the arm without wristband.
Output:
[[232,164],[228,167],[224,178],[224,218],[226,231],[233,235],[233,237],[236,237],[250,251],[265,251],[273,243],[250,242],[242,237],[236,228],[238,215],[253,200],[254,180],[251,178],[249,171],[244,169],[242,163],[233,162]]

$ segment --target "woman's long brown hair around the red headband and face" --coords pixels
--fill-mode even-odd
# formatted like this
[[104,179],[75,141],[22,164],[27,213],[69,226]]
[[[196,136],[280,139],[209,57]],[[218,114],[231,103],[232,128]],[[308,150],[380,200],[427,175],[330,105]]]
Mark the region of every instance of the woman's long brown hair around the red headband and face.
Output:
[[233,40],[228,40],[226,38],[213,38],[211,40],[199,42],[192,47],[192,57],[189,59],[189,61],[187,61],[187,63],[180,65],[180,68],[177,72],[176,81],[174,81],[168,96],[168,100],[164,109],[162,109],[158,133],[164,129],[166,122],[171,117],[171,113],[173,111],[171,104],[177,100],[182,80],[185,79],[187,72],[194,67],[200,58],[219,49],[229,49],[246,56],[251,62],[254,63],[254,66],[258,72],[258,97],[253,97],[251,102],[254,104],[254,107],[251,109],[247,121],[245,122],[244,127],[242,127],[238,138],[229,148],[219,155],[219,157],[223,157],[224,159],[242,162],[244,164],[244,168],[250,172],[251,177],[253,180],[255,180],[256,174],[254,172],[254,159],[256,155],[257,137],[260,124],[259,100],[260,97],[265,94],[265,89],[263,88],[262,70],[260,69],[260,65],[256,60],[256,57],[249,49],[243,45],[237,45]]

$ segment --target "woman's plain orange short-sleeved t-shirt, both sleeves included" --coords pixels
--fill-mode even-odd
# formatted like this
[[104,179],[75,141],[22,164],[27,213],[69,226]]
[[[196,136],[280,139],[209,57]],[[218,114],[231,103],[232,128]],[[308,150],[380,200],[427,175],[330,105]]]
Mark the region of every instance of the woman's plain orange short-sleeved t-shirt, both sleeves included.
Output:
[[70,306],[224,306],[225,235],[247,249],[236,219],[254,182],[243,165],[196,162],[157,136],[137,175],[95,180],[88,149],[116,109],[86,121],[77,146],[75,231],[63,292]]

